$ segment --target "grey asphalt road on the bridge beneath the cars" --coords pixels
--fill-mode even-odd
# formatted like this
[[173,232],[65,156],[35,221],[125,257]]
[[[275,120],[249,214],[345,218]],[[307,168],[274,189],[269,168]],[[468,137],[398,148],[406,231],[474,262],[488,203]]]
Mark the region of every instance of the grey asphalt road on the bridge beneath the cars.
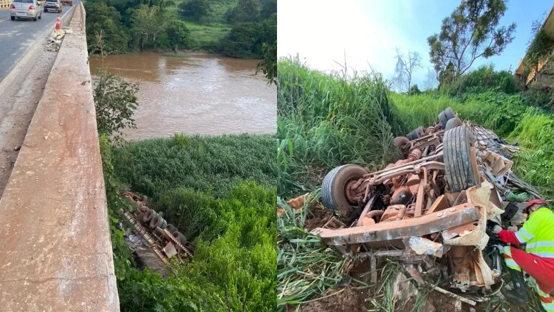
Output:
[[[75,6],[78,1],[74,1]],[[64,6],[62,15],[69,11],[70,6]],[[42,9],[42,7],[41,7]],[[60,15],[60,17],[62,16]],[[25,55],[33,42],[45,42],[46,35],[53,31],[57,12],[42,11],[42,19],[10,19],[10,10],[0,10],[0,81],[6,78],[21,57]]]

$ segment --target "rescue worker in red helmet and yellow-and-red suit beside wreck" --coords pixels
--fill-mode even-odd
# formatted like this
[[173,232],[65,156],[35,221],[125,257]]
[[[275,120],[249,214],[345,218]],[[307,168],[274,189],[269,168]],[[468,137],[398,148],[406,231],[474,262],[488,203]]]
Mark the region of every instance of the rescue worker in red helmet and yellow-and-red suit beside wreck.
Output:
[[514,289],[506,294],[508,299],[519,304],[527,302],[524,270],[537,281],[537,294],[546,311],[554,311],[554,213],[542,199],[527,203],[524,213],[528,220],[517,232],[494,227],[499,239],[511,245],[526,244],[526,252],[503,246],[503,257],[510,271]]

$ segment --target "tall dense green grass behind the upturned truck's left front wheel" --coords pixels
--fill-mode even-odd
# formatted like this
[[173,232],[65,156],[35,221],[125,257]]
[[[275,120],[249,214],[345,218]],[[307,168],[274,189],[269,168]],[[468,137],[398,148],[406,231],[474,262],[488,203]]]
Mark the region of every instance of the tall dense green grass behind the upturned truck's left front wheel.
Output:
[[[278,64],[277,132],[280,194],[313,189],[321,168],[345,163],[378,167],[397,157],[393,132],[402,132],[377,74],[321,73],[298,60]],[[287,159],[287,164],[283,164]],[[286,169],[285,169],[286,167]]]

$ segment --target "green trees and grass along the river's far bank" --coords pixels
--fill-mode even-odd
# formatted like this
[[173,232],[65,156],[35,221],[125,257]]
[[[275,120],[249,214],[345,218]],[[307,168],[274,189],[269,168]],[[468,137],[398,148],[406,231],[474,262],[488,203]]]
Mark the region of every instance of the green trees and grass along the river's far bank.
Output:
[[[276,44],[275,0],[89,0],[87,43],[100,53],[202,49],[233,58],[263,58]],[[276,60],[276,56],[275,56]]]

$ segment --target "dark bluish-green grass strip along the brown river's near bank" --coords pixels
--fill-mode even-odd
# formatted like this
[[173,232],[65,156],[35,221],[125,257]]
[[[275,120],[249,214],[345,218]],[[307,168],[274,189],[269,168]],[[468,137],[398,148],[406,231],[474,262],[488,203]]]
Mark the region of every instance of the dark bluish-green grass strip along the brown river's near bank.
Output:
[[155,200],[177,187],[224,196],[242,180],[276,184],[275,138],[271,135],[175,135],[114,150],[116,177]]

